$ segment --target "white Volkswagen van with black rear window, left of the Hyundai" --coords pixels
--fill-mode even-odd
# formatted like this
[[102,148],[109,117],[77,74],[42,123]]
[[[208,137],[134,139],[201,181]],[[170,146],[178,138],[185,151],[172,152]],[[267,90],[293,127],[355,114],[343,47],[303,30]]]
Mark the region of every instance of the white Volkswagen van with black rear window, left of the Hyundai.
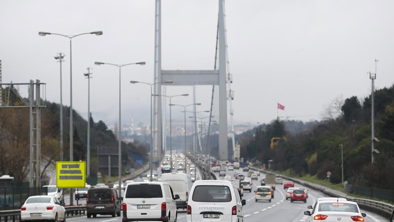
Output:
[[123,197],[122,222],[177,221],[177,205],[171,186],[163,182],[131,182]]

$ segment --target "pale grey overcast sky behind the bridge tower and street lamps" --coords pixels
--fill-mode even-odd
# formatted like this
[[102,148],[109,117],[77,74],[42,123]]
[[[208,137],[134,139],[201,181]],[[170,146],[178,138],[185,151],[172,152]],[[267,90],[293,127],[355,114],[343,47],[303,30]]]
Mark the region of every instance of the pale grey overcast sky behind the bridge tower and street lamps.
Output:
[[[122,68],[122,122],[149,122],[150,88],[130,80],[153,81],[154,0],[1,0],[0,60],[3,83],[46,83],[46,99],[60,102],[59,63],[65,53],[63,104],[70,104],[69,39],[38,32],[84,35],[72,40],[73,107],[87,117],[87,67],[93,68],[91,112],[95,121],[118,119]],[[227,0],[225,5],[234,121],[270,122],[279,116],[321,119],[324,105],[339,95],[370,94],[368,71],[376,88],[390,87],[394,71],[392,0]],[[214,67],[217,0],[162,0],[162,69]],[[21,90],[24,96],[27,90]],[[212,87],[197,87],[198,110],[210,107]],[[167,87],[168,95],[192,87]],[[190,104],[188,98],[173,103]],[[175,120],[183,120],[178,107]],[[300,117],[302,116],[302,117]]]

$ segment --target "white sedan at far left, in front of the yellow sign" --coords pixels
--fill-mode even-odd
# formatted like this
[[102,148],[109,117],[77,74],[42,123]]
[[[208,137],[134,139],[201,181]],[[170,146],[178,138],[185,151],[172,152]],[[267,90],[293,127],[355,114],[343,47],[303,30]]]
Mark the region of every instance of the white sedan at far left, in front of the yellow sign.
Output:
[[53,196],[31,196],[20,208],[20,221],[66,221],[66,210],[58,198]]

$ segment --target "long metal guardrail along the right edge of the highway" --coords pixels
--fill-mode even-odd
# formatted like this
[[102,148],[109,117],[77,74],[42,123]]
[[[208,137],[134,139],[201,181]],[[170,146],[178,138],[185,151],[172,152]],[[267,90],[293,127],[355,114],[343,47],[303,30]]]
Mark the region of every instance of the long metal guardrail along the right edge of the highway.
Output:
[[[265,171],[265,170],[258,169],[258,168],[255,168],[255,167],[249,167],[249,168],[253,169],[253,170],[258,170],[258,171],[263,172],[263,173],[271,173],[272,174],[272,172],[270,172],[270,171]],[[391,217],[391,215],[392,215],[392,213],[394,211],[394,205],[391,205],[389,203],[384,203],[384,202],[370,200],[370,199],[355,198],[355,197],[348,196],[348,195],[342,196],[339,193],[335,193],[335,192],[331,192],[331,191],[327,190],[326,187],[321,186],[321,185],[316,186],[316,185],[314,185],[312,183],[305,182],[305,181],[299,181],[299,180],[297,180],[295,178],[288,177],[288,176],[285,176],[285,175],[280,175],[280,176],[282,178],[284,178],[284,179],[288,179],[288,180],[297,182],[297,183],[299,183],[299,184],[301,184],[303,186],[307,186],[307,187],[312,188],[314,190],[318,190],[318,191],[322,192],[323,194],[326,194],[327,196],[346,198],[349,201],[354,201],[354,202],[356,202],[359,205],[359,207],[361,209],[369,211],[369,212],[372,212],[372,213],[375,213],[375,214],[378,214],[378,215],[383,216],[383,217],[385,217],[387,219],[390,219],[390,217]]]

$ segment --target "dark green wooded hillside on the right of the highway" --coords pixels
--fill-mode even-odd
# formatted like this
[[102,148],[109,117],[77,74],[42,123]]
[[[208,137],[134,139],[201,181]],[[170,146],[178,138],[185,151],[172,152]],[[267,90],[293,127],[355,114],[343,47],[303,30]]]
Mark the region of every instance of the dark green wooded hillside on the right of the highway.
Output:
[[[325,120],[310,130],[289,132],[285,122],[274,120],[246,132],[240,139],[241,156],[256,158],[272,169],[293,175],[316,175],[340,183],[343,145],[344,181],[358,186],[394,189],[394,87],[375,91],[375,137],[379,153],[371,162],[371,98],[337,99],[326,107]],[[270,148],[272,137],[286,137]]]

